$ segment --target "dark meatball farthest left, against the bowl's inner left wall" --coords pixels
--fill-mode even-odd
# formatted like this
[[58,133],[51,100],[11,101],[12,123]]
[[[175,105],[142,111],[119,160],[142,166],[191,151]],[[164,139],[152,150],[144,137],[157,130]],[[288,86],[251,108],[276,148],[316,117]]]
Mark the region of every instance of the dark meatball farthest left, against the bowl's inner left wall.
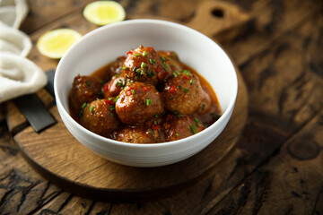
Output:
[[101,91],[99,78],[77,75],[70,93],[72,107],[75,111],[79,111],[84,103],[100,98]]

